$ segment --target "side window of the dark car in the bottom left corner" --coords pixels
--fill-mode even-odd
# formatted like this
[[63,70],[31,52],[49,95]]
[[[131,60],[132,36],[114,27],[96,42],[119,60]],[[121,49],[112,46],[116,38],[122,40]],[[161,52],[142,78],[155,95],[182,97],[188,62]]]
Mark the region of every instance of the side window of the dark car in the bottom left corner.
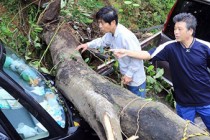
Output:
[[23,140],[35,140],[49,136],[48,130],[9,92],[0,87],[0,93],[1,111]]

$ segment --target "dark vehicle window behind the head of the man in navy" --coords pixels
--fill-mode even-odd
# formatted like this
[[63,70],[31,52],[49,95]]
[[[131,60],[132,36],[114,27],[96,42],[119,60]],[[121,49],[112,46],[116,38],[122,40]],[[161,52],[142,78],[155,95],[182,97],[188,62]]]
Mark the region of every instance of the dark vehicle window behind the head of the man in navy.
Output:
[[174,38],[174,23],[173,17],[181,12],[192,13],[198,22],[195,36],[199,39],[210,42],[210,5],[207,2],[199,2],[194,0],[179,0],[174,7],[173,12],[171,13],[170,18],[168,19],[167,27],[164,30],[164,33],[170,37]]

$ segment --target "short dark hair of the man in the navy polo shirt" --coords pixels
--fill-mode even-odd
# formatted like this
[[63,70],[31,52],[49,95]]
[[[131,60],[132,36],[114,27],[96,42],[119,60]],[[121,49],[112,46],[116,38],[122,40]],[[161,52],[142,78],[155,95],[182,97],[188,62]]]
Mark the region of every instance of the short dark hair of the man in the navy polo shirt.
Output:
[[197,26],[197,20],[191,13],[179,13],[173,18],[174,23],[176,22],[185,22],[187,29],[193,30],[193,36],[195,36],[195,30]]

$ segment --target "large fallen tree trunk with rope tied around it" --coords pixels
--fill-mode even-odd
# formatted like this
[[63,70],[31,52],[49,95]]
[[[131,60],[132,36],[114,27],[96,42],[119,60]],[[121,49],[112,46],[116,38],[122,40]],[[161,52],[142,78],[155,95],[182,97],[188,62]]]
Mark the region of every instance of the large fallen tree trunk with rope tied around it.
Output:
[[[186,127],[187,122],[164,104],[139,98],[98,75],[75,51],[79,43],[74,30],[68,24],[62,25],[57,34],[55,29],[48,28],[44,39],[57,66],[56,85],[100,139],[120,140],[123,132],[127,138],[180,140],[185,128],[186,136],[204,133],[192,124]],[[210,138],[202,135],[191,139]]]

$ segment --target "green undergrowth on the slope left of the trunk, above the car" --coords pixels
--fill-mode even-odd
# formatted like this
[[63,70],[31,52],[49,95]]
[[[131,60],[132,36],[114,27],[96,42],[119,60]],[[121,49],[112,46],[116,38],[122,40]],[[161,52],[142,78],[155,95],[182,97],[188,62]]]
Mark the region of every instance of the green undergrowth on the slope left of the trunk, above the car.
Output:
[[[0,4],[7,10],[7,14],[1,17],[0,40],[13,48],[17,54],[31,61],[30,65],[47,72],[45,67],[36,63],[38,62],[36,58],[40,58],[43,52],[39,36],[43,29],[36,23],[40,9],[30,4],[23,6],[19,0],[3,1]],[[23,11],[25,16],[22,14]]]

